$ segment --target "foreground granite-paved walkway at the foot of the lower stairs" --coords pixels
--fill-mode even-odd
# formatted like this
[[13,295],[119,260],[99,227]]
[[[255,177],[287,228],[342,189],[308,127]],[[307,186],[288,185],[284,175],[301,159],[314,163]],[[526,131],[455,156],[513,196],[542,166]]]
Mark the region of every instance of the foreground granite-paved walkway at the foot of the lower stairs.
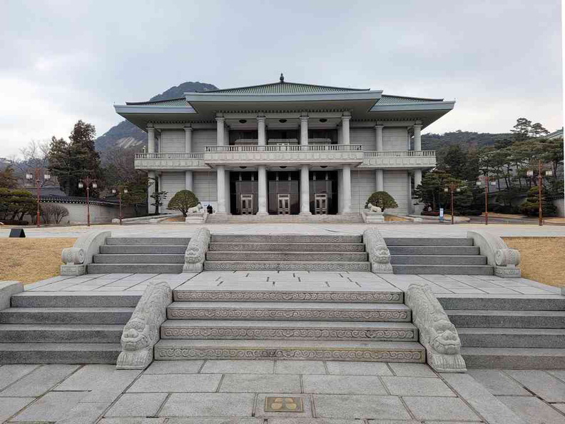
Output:
[[[303,412],[267,412],[268,396],[297,397]],[[437,374],[424,364],[284,360],[161,361],[144,372],[3,365],[0,422],[563,424],[565,371]]]

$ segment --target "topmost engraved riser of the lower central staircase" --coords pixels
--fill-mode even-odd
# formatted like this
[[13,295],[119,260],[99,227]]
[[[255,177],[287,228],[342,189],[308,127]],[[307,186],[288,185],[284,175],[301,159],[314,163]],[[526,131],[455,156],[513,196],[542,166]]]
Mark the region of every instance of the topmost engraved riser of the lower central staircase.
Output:
[[173,299],[178,302],[404,303],[404,293],[378,291],[173,290]]

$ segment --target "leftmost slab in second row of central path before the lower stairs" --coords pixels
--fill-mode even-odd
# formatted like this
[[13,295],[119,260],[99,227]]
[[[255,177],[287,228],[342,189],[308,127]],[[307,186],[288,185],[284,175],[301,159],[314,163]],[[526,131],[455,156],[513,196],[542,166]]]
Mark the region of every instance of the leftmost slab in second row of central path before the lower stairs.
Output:
[[220,374],[148,374],[141,375],[128,393],[215,392]]

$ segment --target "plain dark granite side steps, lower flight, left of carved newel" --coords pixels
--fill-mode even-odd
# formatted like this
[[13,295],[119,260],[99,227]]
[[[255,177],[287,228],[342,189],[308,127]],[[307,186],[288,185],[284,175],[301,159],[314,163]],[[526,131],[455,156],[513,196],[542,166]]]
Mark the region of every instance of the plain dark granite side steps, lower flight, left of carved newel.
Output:
[[0,311],[0,364],[116,363],[140,295],[27,291]]

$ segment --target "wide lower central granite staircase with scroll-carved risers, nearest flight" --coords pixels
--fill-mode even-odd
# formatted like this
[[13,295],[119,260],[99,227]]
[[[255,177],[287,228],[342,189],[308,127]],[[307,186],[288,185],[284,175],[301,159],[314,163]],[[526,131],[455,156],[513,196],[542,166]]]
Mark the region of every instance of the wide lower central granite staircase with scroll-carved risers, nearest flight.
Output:
[[155,360],[425,362],[402,291],[176,288]]

